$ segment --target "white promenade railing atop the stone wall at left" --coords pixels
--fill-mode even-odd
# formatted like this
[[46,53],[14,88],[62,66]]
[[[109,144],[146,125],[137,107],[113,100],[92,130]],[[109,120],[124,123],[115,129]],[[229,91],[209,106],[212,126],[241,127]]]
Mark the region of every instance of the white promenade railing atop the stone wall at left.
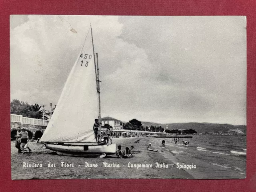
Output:
[[48,120],[23,117],[22,115],[16,115],[16,114],[11,114],[11,122],[18,122],[21,124],[30,124],[30,125],[41,125],[41,126],[47,126],[49,123]]

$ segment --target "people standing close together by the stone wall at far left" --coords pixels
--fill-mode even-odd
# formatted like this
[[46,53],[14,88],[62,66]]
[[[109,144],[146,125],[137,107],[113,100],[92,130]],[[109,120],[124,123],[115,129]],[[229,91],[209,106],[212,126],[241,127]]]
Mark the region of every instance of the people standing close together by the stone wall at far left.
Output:
[[17,128],[16,133],[16,141],[15,141],[15,147],[18,149],[18,153],[24,153],[25,148],[29,150],[29,153],[32,152],[32,150],[28,146],[28,132],[25,128]]

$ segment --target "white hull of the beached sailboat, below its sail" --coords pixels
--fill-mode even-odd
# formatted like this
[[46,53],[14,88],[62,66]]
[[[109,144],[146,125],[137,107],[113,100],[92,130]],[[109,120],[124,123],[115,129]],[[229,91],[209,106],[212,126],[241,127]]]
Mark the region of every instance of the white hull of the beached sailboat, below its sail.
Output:
[[102,153],[112,155],[116,153],[116,144],[111,145],[84,145],[84,146],[69,146],[69,145],[55,145],[46,144],[46,148],[56,151],[58,155],[64,156],[97,156]]

